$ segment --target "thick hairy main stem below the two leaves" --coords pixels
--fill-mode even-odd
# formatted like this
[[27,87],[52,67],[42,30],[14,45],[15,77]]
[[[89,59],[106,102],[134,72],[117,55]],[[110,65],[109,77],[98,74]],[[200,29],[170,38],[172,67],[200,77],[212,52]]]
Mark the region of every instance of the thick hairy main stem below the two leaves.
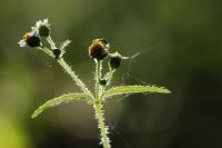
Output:
[[99,129],[101,132],[101,141],[103,145],[103,148],[110,148],[110,140],[108,137],[108,127],[104,126],[104,118],[103,118],[103,111],[102,111],[102,105],[100,102],[94,103],[94,111],[97,115],[97,120],[99,124]]

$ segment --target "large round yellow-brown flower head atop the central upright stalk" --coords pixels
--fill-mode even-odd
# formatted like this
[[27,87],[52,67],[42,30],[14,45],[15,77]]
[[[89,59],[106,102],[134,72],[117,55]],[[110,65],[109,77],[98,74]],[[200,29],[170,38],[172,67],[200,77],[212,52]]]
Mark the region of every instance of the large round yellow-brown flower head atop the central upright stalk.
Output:
[[109,47],[105,39],[94,39],[89,47],[89,56],[97,60],[103,60],[108,56]]

